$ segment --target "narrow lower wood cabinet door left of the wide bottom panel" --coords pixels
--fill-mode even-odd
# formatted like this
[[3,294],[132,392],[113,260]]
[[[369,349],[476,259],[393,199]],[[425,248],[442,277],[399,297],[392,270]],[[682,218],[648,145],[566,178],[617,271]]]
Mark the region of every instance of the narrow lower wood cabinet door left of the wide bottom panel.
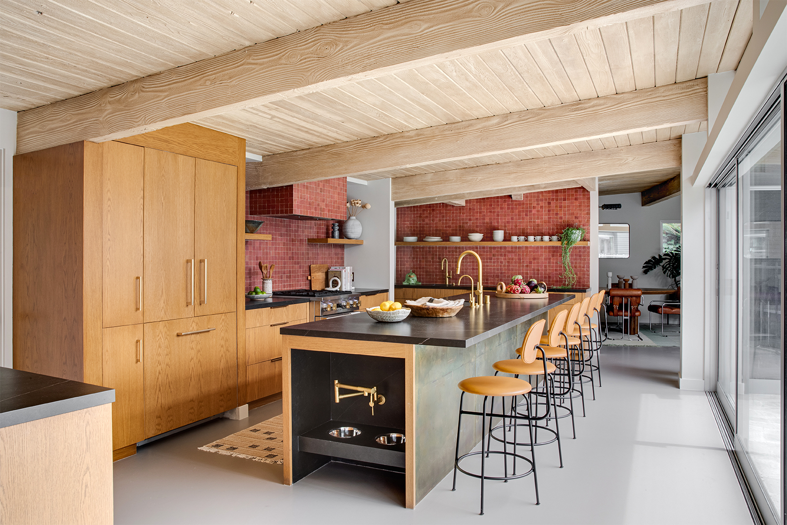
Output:
[[115,389],[112,449],[145,439],[145,347],[142,324],[104,328],[103,386]]

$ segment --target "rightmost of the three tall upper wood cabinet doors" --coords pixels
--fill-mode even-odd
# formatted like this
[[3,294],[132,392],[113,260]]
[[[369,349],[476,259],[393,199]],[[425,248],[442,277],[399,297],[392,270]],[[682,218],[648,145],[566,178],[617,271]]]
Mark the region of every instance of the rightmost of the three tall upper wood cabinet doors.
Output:
[[235,312],[238,168],[197,159],[195,169],[194,315]]

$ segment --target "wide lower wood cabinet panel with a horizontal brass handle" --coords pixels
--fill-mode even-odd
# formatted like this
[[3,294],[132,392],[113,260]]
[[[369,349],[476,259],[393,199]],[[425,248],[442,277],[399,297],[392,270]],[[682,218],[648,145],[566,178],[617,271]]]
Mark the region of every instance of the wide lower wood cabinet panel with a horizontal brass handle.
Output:
[[238,406],[236,334],[235,313],[145,324],[146,438]]

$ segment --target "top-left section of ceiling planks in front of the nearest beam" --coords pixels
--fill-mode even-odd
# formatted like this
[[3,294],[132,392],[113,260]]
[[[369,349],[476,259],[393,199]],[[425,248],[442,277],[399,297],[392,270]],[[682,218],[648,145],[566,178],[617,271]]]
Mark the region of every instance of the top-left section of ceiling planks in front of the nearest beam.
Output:
[[24,111],[397,0],[3,0],[0,107]]

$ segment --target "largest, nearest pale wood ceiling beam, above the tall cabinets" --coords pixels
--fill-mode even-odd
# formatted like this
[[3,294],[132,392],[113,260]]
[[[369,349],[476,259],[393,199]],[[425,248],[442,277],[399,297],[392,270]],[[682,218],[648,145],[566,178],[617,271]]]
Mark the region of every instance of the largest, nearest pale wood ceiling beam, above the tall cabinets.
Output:
[[17,153],[103,142],[707,0],[405,2],[18,114]]

